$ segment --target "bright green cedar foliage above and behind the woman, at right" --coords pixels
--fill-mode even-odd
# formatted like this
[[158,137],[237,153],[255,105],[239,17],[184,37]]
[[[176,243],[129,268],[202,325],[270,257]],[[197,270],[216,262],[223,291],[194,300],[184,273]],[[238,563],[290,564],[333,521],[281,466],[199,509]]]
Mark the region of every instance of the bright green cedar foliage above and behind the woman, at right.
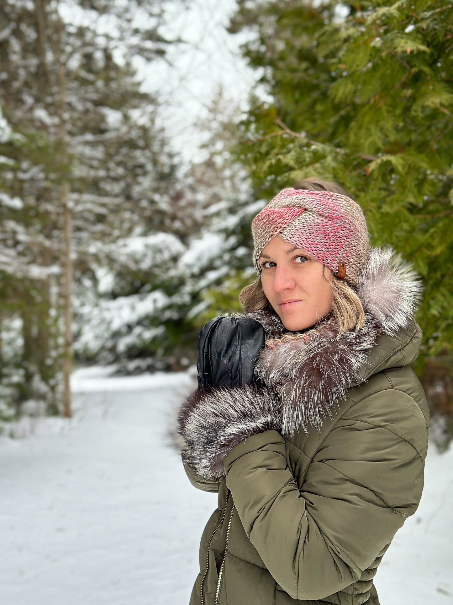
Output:
[[252,99],[236,149],[255,194],[312,175],[350,191],[371,244],[423,278],[425,356],[453,346],[452,25],[440,0],[240,1],[231,22],[255,31],[243,53],[272,96]]

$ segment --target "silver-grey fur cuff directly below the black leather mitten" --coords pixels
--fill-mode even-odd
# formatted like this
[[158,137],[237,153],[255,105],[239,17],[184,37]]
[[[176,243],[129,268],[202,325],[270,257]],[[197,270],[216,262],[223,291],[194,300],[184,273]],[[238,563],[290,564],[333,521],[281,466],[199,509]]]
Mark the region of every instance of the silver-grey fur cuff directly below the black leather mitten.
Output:
[[235,445],[280,426],[275,398],[265,389],[199,389],[178,414],[182,460],[204,479],[219,481],[225,477],[223,459]]

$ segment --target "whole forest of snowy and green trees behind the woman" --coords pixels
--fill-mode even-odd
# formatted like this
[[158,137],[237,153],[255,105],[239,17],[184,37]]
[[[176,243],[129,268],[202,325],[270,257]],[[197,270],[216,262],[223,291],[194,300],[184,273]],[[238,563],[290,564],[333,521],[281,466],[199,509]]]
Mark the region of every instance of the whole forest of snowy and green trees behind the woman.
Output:
[[349,191],[371,243],[423,280],[415,369],[445,448],[453,5],[237,0],[227,34],[254,74],[248,100],[234,85],[208,99],[191,152],[178,149],[158,81],[190,44],[171,27],[188,10],[184,0],[0,4],[2,430],[21,414],[70,416],[75,365],[193,365],[200,327],[240,311],[254,279],[252,217],[316,176]]

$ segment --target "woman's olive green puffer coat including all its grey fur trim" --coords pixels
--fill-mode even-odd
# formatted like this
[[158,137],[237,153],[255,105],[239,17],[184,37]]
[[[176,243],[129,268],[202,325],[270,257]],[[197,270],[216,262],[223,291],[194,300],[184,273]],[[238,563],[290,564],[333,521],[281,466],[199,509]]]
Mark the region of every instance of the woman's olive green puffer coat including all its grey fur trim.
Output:
[[219,492],[190,605],[376,605],[373,577],[423,488],[428,409],[417,283],[373,250],[364,327],[288,334],[269,312],[266,388],[196,393],[182,405],[194,486]]

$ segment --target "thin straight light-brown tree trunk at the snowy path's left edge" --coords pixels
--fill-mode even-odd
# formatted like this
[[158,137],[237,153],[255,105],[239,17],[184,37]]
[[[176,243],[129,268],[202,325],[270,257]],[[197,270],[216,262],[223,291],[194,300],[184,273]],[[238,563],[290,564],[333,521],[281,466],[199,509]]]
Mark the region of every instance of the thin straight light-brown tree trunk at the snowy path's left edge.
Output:
[[[57,67],[58,67],[58,103],[57,111],[60,119],[59,142],[61,153],[61,164],[65,171],[68,169],[68,142],[66,133],[66,80],[65,70],[62,62],[63,44],[63,22],[59,13],[59,5],[56,7],[57,19]],[[65,348],[63,351],[63,416],[70,418],[71,412],[71,386],[69,384],[72,369],[72,209],[69,204],[69,182],[67,176],[63,179],[61,186],[61,201],[63,206],[63,304],[65,308]]]

